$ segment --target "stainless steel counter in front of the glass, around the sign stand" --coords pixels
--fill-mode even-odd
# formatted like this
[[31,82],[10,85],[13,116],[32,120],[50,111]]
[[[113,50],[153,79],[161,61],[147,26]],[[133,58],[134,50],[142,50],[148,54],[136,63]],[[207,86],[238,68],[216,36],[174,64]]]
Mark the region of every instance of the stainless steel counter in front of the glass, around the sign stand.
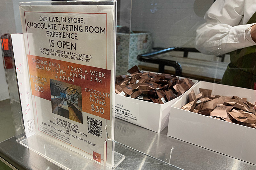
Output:
[[[124,161],[115,170],[179,170],[179,168],[169,166],[118,143],[116,143],[115,151],[126,156]],[[0,158],[18,170],[63,170],[44,157],[29,151],[28,148],[17,143],[15,137],[0,143]]]

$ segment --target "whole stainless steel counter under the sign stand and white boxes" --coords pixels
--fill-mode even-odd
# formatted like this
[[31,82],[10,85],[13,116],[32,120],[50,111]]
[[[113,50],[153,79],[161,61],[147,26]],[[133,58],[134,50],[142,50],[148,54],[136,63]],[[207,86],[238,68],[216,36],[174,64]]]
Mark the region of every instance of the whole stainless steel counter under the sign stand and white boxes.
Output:
[[[116,170],[256,169],[256,166],[250,163],[169,137],[167,128],[158,134],[116,119],[115,140],[118,142],[115,151],[126,156]],[[19,170],[62,170],[17,143],[15,137],[0,143],[0,158]],[[168,165],[169,159],[173,166]]]

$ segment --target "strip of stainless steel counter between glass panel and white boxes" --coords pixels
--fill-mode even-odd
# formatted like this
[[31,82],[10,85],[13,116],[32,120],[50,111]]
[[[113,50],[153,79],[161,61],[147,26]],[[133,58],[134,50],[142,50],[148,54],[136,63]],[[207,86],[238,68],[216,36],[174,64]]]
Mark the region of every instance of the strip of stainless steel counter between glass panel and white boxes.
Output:
[[115,140],[163,162],[169,163],[170,160],[170,164],[181,169],[256,169],[253,164],[169,137],[167,127],[158,134],[116,118]]

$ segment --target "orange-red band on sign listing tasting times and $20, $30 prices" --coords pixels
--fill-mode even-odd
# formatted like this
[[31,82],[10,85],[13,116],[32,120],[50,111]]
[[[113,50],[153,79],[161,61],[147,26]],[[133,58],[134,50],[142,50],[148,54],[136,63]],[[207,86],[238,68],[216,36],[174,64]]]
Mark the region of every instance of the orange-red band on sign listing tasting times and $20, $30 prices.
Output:
[[110,120],[110,70],[33,55],[28,66],[32,95],[51,101],[50,79],[73,84],[82,89],[83,112]]

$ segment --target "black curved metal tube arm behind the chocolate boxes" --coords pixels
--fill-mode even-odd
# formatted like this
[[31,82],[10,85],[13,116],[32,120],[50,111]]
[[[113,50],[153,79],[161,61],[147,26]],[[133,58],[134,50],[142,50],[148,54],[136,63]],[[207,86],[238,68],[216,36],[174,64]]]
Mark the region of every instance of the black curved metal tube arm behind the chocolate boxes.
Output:
[[137,59],[139,61],[148,62],[148,63],[154,63],[159,64],[158,66],[158,72],[164,73],[164,66],[172,66],[175,68],[175,75],[181,75],[182,68],[180,63],[177,61],[167,60],[167,59],[161,59],[155,57],[156,55],[163,54],[170,51],[184,51],[183,57],[188,57],[188,52],[199,52],[195,48],[183,48],[183,47],[170,47],[163,50],[153,51],[145,54],[140,54],[137,56]]

